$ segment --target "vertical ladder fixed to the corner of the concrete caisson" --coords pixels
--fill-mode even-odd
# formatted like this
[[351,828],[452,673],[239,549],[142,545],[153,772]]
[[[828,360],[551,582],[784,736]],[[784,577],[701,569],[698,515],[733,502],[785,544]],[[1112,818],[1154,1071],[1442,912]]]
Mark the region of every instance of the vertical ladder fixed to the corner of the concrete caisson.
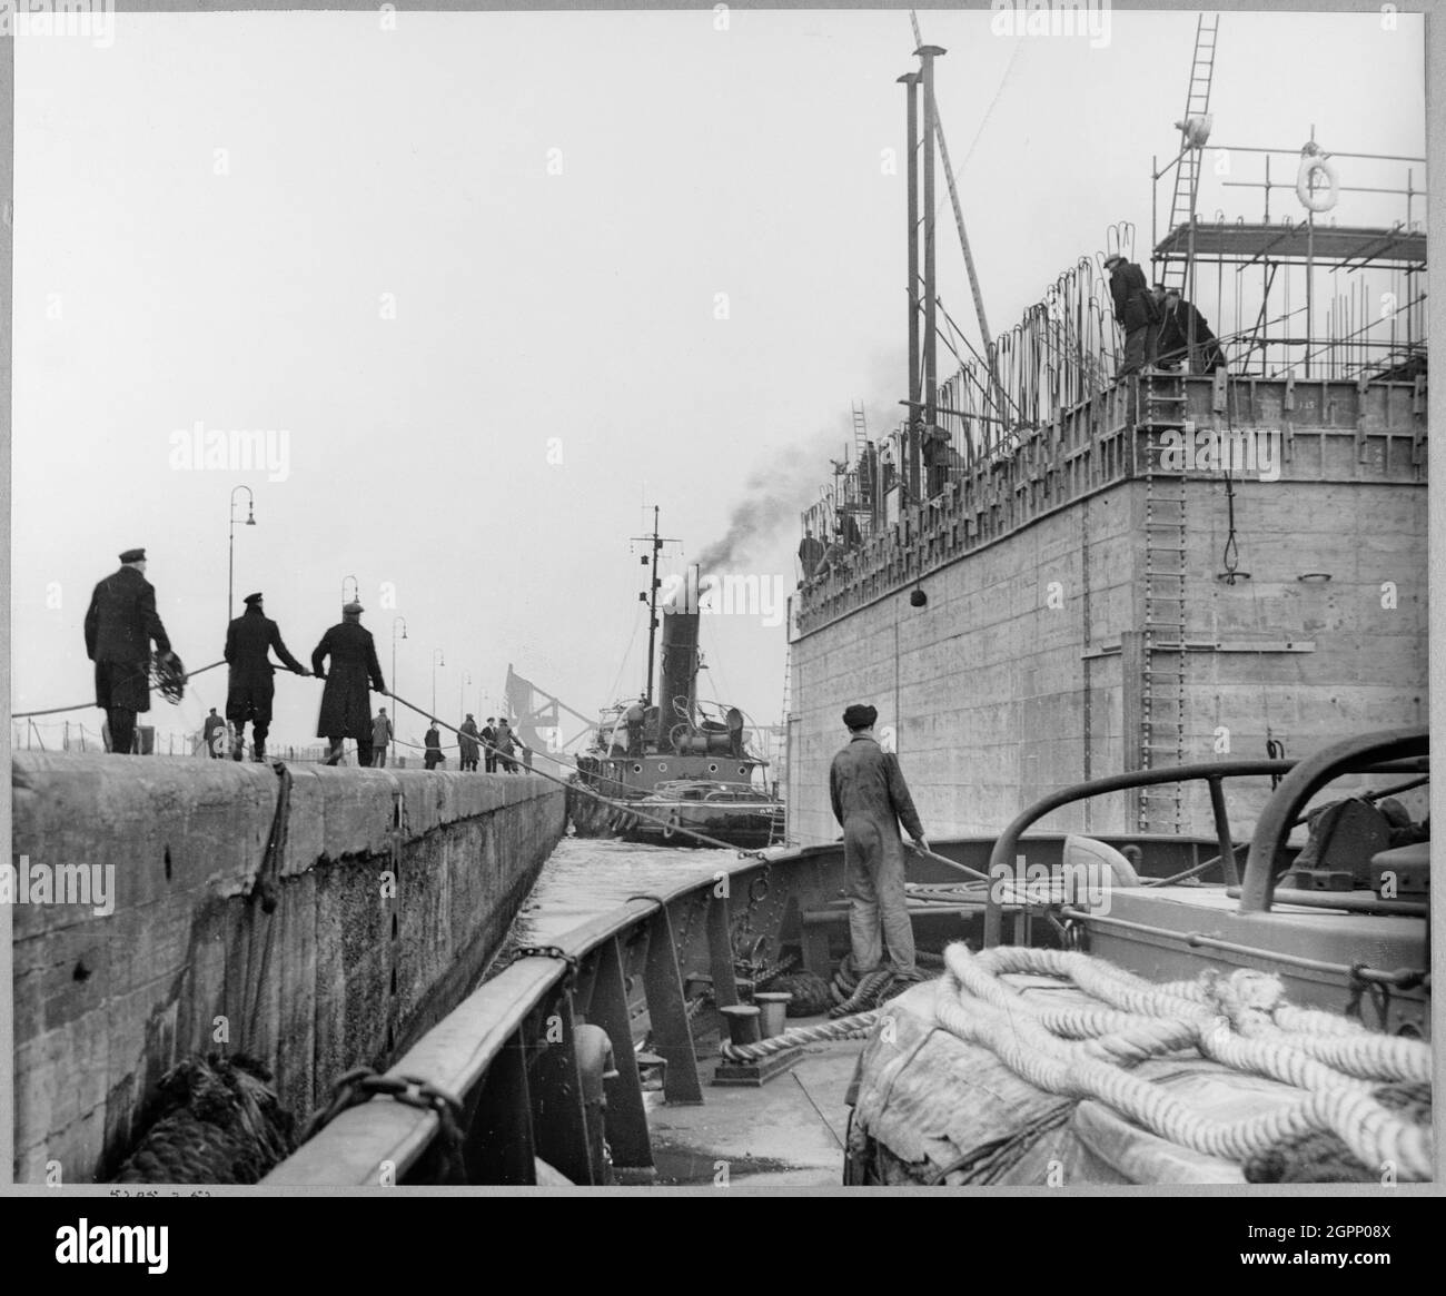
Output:
[[[1186,464],[1161,463],[1163,432],[1186,434],[1184,380],[1151,373],[1139,380],[1145,451],[1144,675],[1139,681],[1139,764],[1180,765],[1186,754]],[[1139,790],[1139,829],[1184,827],[1181,784]]]

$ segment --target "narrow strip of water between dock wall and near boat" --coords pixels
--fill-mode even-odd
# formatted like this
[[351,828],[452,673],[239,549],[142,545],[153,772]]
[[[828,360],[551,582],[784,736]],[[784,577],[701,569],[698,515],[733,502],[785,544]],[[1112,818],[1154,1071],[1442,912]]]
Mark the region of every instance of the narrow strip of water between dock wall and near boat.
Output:
[[521,945],[557,945],[574,927],[619,908],[630,895],[661,894],[691,879],[711,878],[736,861],[736,850],[562,837],[486,975],[506,966]]

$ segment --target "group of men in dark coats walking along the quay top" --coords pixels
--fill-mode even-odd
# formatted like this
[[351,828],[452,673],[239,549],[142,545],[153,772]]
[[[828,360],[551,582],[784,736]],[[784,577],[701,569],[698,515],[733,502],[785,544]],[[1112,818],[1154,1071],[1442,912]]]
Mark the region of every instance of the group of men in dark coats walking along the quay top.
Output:
[[[276,691],[275,652],[281,665],[298,675],[324,681],[317,736],[327,741],[325,764],[341,762],[343,746],[350,738],[357,748],[357,764],[383,768],[388,748],[398,739],[386,707],[372,715],[370,693],[388,694],[376,641],[362,625],[366,610],[359,602],[341,609],[341,621],[331,626],[311,654],[311,668],[302,665],[286,648],[281,628],[266,615],[265,596],[247,594],[246,610],[226,629],[224,660],[228,671],[226,716],[215,707],[205,717],[202,743],[213,758],[230,755],[240,761],[246,754],[246,726],[252,726],[252,755],[266,759],[272,702]],[[95,664],[95,706],[106,712],[110,751],[129,754],[134,748],[136,716],[150,710],[150,645],[155,644],[158,671],[171,670],[184,678],[179,657],[171,647],[166,629],[156,613],[156,590],[146,580],[146,551],[126,550],[120,570],[107,576],[91,594],[85,612],[85,654]],[[521,772],[532,768],[532,751],[513,732],[506,717],[487,716],[479,729],[471,713],[458,726],[458,758],[463,770],[477,770],[484,759],[489,774]],[[522,762],[515,754],[522,754]],[[424,739],[424,764],[435,770],[445,764],[441,732],[429,720]]]

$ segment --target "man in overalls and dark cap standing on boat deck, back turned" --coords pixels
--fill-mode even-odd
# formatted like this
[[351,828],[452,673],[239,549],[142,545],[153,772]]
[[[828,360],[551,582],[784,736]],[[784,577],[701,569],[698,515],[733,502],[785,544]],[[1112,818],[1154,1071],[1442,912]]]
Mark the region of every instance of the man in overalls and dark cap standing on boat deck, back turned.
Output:
[[[843,713],[849,745],[833,758],[829,796],[843,827],[843,864],[849,888],[849,937],[859,976],[878,971],[884,946],[898,976],[917,976],[914,929],[904,898],[904,842],[908,835],[928,849],[914,798],[908,794],[898,756],[873,738],[879,717],[872,706],[855,703]],[[884,939],[879,940],[879,929]]]

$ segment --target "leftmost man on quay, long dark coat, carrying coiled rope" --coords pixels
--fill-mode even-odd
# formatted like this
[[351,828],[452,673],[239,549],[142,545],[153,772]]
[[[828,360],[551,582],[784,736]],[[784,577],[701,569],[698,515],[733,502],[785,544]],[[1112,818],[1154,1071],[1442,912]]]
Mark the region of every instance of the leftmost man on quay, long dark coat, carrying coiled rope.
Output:
[[85,612],[85,655],[95,662],[95,706],[106,712],[110,749],[130,755],[136,713],[150,710],[150,641],[171,655],[171,639],[156,615],[156,590],[146,580],[146,551],[126,550],[120,570],[91,594]]

